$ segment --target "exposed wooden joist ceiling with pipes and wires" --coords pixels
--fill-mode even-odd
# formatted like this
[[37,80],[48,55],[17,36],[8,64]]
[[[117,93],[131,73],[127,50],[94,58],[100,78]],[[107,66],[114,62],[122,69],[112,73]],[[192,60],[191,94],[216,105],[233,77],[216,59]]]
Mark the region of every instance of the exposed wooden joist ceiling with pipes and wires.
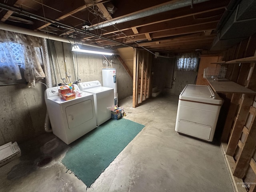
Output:
[[[62,0],[60,4],[52,0],[8,0],[10,4],[6,4],[17,12],[0,3],[0,19],[8,25],[107,48],[145,46],[184,52],[198,47],[209,52],[230,1],[140,0],[135,4],[134,0]],[[166,9],[167,6],[171,8]],[[20,22],[14,22],[12,17],[20,18]],[[82,28],[85,25],[88,27]]]

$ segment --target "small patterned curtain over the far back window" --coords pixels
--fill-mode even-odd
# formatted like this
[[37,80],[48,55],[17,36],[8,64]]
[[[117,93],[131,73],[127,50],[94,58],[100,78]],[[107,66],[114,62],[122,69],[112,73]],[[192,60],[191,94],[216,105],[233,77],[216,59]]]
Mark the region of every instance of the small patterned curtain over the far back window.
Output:
[[179,71],[195,71],[198,65],[198,53],[187,53],[178,56],[177,68]]

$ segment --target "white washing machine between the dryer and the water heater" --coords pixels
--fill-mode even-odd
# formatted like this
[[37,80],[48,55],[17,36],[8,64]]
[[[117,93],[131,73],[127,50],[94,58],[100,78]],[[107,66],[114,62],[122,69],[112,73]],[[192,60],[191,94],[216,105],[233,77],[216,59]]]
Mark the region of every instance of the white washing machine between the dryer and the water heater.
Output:
[[83,92],[94,96],[97,126],[111,118],[111,108],[114,107],[114,88],[102,87],[100,82],[90,81],[78,84]]

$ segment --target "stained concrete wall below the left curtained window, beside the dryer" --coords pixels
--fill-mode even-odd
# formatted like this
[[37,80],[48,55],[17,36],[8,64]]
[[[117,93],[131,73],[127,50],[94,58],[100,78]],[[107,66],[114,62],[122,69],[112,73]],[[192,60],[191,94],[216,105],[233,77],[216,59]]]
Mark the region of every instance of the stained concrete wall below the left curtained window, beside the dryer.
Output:
[[0,86],[2,97],[0,145],[20,142],[44,133],[46,105],[43,84]]

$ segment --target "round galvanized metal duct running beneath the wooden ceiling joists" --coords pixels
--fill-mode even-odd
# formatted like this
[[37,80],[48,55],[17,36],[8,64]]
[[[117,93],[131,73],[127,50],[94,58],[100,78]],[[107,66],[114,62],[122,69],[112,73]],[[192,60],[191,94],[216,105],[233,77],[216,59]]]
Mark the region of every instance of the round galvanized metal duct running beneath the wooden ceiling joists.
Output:
[[126,16],[124,18],[120,18],[120,19],[116,19],[116,20],[111,20],[110,21],[111,23],[105,22],[102,24],[97,24],[96,26],[86,28],[86,30],[94,30],[97,28],[104,28],[107,26],[111,26],[112,24],[119,24],[119,23],[131,21],[131,20],[135,20],[138,18],[142,18],[142,17],[147,17],[147,16],[159,14],[159,13],[170,11],[170,10],[175,10],[175,9],[186,7],[186,6],[192,7],[193,4],[198,4],[198,3],[202,3],[202,2],[206,2],[206,1],[209,1],[209,0],[180,0],[178,2],[177,1],[170,2],[169,4],[164,4],[162,6],[152,8],[150,10],[145,10],[144,12],[136,13],[136,14]]

